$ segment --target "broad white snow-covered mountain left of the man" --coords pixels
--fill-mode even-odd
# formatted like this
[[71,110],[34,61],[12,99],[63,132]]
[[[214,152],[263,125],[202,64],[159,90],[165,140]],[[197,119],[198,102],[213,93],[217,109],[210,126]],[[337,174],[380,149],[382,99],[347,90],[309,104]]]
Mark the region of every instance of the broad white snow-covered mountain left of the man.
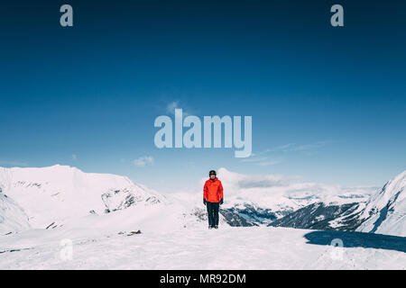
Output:
[[0,167],[0,188],[17,202],[34,228],[56,227],[89,213],[165,202],[165,196],[120,175],[84,173],[76,167]]

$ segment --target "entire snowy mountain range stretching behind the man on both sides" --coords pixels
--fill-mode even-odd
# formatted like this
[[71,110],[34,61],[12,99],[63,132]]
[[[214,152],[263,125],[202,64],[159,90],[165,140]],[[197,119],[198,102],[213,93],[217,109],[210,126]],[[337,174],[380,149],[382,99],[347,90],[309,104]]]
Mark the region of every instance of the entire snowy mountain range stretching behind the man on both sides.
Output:
[[[399,236],[406,233],[406,171],[371,196],[361,188],[352,191],[297,183],[279,176],[247,177],[224,168],[219,174],[230,191],[220,209],[220,221],[230,226],[357,230]],[[123,216],[115,213],[126,210]],[[59,165],[0,167],[1,234],[54,229],[89,215],[115,214],[115,222],[130,225],[133,219],[142,220],[150,212],[156,221],[161,218],[167,229],[207,221],[202,203],[181,203],[125,176],[84,173],[76,167]],[[107,220],[104,223],[112,225]]]

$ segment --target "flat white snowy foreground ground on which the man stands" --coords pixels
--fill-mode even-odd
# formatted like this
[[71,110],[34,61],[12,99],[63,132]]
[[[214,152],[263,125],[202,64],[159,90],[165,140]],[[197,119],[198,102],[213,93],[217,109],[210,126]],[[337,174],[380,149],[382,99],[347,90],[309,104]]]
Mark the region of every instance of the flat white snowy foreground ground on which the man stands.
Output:
[[[405,269],[406,253],[312,245],[305,229],[189,228],[170,232],[80,236],[36,229],[0,237],[0,269]],[[73,241],[71,260],[60,239]],[[51,235],[50,235],[51,234]],[[14,252],[10,252],[14,249]],[[20,249],[20,250],[19,250]],[[5,251],[4,253],[1,253]],[[334,253],[342,252],[340,258]]]

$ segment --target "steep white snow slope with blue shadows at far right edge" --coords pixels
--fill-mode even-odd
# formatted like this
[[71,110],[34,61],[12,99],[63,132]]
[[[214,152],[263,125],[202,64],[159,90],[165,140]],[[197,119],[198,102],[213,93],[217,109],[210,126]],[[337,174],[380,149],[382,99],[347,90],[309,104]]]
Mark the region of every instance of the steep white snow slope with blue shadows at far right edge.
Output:
[[358,231],[406,236],[406,171],[371,196],[360,214]]

